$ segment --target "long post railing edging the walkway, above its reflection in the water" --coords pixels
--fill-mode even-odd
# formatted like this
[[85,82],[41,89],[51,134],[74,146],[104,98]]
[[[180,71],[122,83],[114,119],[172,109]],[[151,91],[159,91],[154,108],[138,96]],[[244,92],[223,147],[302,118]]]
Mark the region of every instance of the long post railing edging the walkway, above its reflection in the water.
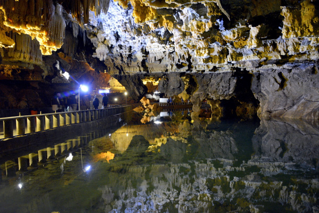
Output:
[[[88,122],[131,110],[131,106],[0,118],[4,138]],[[15,130],[14,131],[14,126]],[[2,139],[4,139],[2,138]]]

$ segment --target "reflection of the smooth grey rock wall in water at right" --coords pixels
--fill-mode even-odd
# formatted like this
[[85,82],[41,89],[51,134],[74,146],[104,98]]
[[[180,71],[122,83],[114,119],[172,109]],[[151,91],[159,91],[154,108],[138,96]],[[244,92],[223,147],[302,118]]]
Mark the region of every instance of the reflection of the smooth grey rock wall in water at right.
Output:
[[267,159],[309,170],[319,170],[319,128],[306,122],[261,120],[253,137],[252,162]]

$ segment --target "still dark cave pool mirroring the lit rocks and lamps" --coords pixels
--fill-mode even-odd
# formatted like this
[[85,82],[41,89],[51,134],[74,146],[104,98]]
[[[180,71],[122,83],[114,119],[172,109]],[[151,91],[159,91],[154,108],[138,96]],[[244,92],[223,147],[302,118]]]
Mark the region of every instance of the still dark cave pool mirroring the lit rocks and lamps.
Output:
[[7,161],[0,212],[319,210],[317,126],[194,121],[178,112],[154,121],[72,140],[71,155],[27,172]]

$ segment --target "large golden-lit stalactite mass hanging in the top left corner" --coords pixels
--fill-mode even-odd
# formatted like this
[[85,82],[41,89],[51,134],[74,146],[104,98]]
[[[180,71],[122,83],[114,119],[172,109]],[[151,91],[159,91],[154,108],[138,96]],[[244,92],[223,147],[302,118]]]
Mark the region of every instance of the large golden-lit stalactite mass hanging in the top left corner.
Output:
[[52,0],[5,1],[0,0],[4,12],[4,25],[8,29],[36,38],[43,55],[51,55],[63,44],[65,21],[62,8]]

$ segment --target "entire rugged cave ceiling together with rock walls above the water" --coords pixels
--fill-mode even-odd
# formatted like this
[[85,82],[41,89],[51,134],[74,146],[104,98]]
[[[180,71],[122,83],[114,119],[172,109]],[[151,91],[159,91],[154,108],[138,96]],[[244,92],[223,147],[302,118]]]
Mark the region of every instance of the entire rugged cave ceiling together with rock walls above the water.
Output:
[[[67,84],[64,72],[95,88],[111,76],[138,101],[156,79],[194,112],[203,100],[236,100],[263,118],[318,119],[318,3],[0,0],[0,80],[36,91]],[[19,108],[0,84],[0,107]]]

